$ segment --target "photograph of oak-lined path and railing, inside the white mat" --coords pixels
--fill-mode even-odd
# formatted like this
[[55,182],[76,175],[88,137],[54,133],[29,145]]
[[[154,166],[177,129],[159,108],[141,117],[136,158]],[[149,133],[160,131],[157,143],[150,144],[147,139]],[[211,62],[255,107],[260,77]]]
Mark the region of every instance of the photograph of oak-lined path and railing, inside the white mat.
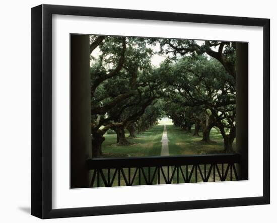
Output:
[[[76,79],[90,83],[84,97],[91,115],[82,130],[91,138],[89,187],[248,180],[247,158],[241,159],[248,146],[236,143],[237,132],[248,140],[248,126],[237,129],[243,127],[237,114],[248,109],[237,106],[237,97],[247,98],[248,83],[239,96],[236,85],[239,64],[248,78],[248,42],[70,38],[72,133],[80,125],[74,111],[83,109],[75,105]],[[246,54],[243,61],[238,48]],[[88,67],[89,77],[82,76]],[[86,187],[74,177],[76,153],[71,188]]]

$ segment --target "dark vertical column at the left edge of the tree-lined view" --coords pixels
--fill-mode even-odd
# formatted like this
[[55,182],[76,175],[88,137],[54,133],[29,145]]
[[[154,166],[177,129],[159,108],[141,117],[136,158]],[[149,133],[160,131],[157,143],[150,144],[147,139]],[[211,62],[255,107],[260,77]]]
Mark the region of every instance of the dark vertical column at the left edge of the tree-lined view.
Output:
[[89,186],[91,158],[89,35],[71,35],[71,188]]

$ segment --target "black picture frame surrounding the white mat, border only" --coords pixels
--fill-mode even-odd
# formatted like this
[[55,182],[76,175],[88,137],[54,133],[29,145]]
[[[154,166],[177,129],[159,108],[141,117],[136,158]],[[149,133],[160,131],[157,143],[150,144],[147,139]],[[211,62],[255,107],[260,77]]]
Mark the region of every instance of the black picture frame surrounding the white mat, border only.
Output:
[[[263,196],[197,201],[140,203],[52,209],[52,15],[93,16],[263,28]],[[31,9],[31,214],[40,218],[76,217],[197,208],[269,204],[270,202],[270,20],[75,6],[40,5]]]

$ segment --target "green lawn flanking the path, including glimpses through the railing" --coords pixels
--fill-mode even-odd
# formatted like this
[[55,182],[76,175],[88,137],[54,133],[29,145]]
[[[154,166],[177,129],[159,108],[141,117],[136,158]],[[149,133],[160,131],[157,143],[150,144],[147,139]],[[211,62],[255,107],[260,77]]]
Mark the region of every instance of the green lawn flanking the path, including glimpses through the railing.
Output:
[[[116,157],[142,157],[142,156],[160,156],[162,147],[162,134],[164,129],[164,124],[167,126],[167,135],[169,139],[169,154],[171,156],[178,155],[204,155],[204,154],[219,154],[224,153],[224,141],[222,135],[216,130],[212,129],[210,134],[210,139],[212,142],[205,143],[202,142],[201,136],[193,136],[193,133],[186,133],[184,130],[172,125],[170,121],[161,121],[159,125],[148,129],[142,134],[137,135],[136,138],[128,139],[132,142],[132,145],[117,145],[116,144],[116,134],[105,134],[105,141],[102,144],[103,157],[116,158]],[[193,129],[192,129],[193,132]],[[201,133],[200,133],[201,134]],[[129,134],[126,133],[127,137]],[[235,147],[235,142],[233,144]],[[221,165],[220,165],[221,166]],[[200,165],[203,170],[203,165]],[[191,170],[191,166],[188,166],[188,172]],[[206,166],[207,169],[210,165]],[[226,165],[225,165],[226,168]],[[151,173],[153,173],[155,167],[150,168]],[[173,170],[173,169],[172,169]],[[148,168],[144,169],[148,172]],[[185,171],[185,170],[183,170]],[[111,174],[114,171],[111,170]],[[133,176],[135,168],[130,168],[130,175]],[[230,171],[229,171],[230,172]],[[104,175],[107,175],[107,170],[103,170]],[[127,173],[127,172],[125,172]],[[228,174],[229,175],[229,174]],[[137,176],[137,175],[136,175]],[[200,173],[197,174],[198,181],[201,179]],[[212,177],[209,181],[212,181]],[[230,176],[227,176],[227,181],[230,180]],[[157,181],[155,177],[154,182]],[[216,181],[220,181],[218,174],[216,174]],[[177,182],[177,176],[175,174],[173,182]],[[193,173],[190,182],[195,182],[195,174]],[[180,177],[179,183],[184,183]],[[144,179],[142,179],[141,185],[146,184]],[[120,179],[120,185],[125,185],[124,180]],[[135,177],[133,185],[138,185],[138,177]],[[96,185],[94,185],[96,186]],[[100,187],[103,187],[104,183],[100,180]],[[113,186],[118,186],[118,179],[114,180]]]

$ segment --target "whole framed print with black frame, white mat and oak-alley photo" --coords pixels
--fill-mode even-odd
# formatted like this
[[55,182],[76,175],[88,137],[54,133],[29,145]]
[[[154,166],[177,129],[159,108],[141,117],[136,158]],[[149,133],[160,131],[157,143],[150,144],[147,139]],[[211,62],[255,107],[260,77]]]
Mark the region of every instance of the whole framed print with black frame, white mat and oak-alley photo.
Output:
[[31,214],[269,204],[269,19],[31,11]]

